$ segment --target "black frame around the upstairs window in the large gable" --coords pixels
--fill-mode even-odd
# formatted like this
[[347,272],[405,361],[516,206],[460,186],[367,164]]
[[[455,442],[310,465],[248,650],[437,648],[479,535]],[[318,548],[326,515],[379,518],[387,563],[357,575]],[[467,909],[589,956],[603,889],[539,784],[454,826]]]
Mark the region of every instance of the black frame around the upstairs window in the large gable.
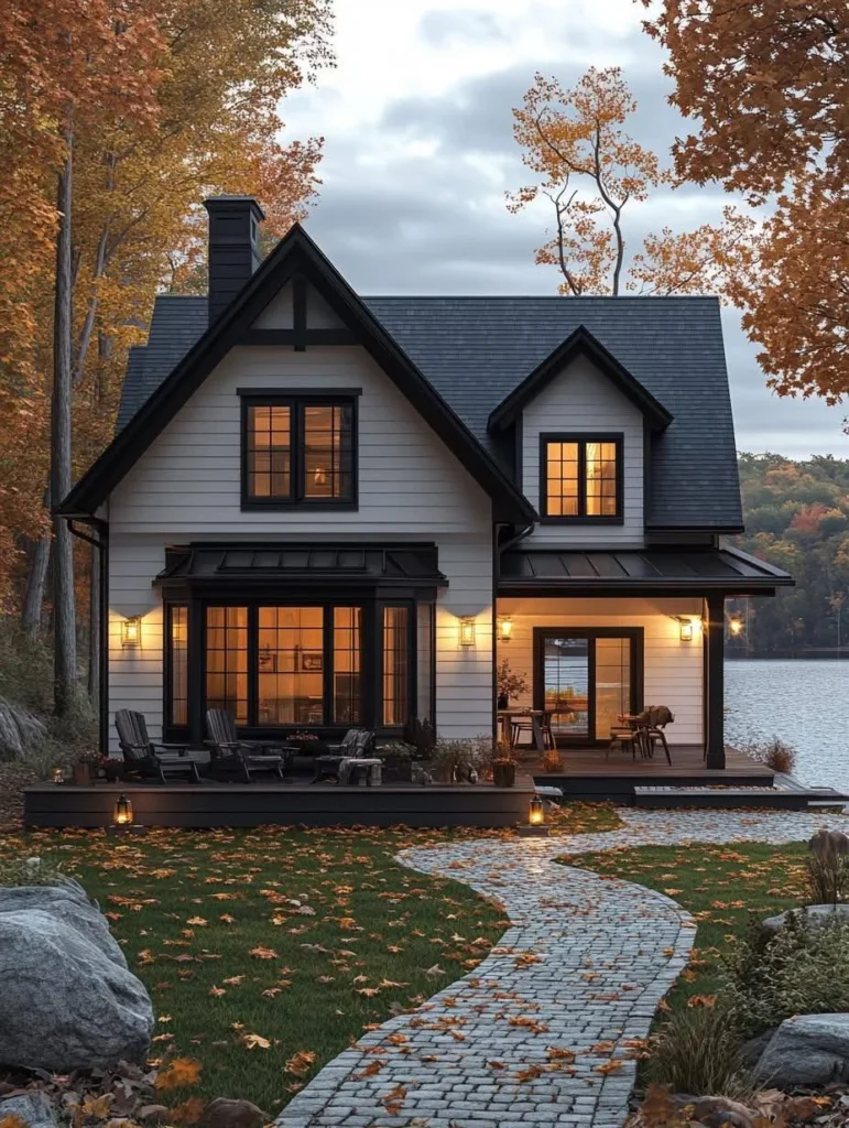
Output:
[[[278,511],[299,510],[336,510],[353,511],[359,509],[359,393],[360,389],[328,391],[262,391],[239,390],[241,400],[241,451],[240,451],[240,493],[242,510]],[[289,497],[255,497],[249,491],[248,441],[249,418],[251,407],[288,407],[290,426],[290,484]],[[307,497],[306,467],[303,444],[303,411],[306,407],[343,407],[351,411],[351,497]]]

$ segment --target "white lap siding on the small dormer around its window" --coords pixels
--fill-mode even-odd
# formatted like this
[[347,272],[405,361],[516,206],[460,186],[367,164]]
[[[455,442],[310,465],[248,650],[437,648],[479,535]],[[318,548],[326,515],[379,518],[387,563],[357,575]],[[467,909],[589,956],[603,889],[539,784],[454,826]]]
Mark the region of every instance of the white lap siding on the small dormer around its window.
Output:
[[523,491],[538,510],[540,434],[620,433],[624,439],[625,496],[621,525],[538,525],[528,541],[563,547],[643,544],[643,414],[590,361],[580,358],[556,376],[525,407],[522,426]]

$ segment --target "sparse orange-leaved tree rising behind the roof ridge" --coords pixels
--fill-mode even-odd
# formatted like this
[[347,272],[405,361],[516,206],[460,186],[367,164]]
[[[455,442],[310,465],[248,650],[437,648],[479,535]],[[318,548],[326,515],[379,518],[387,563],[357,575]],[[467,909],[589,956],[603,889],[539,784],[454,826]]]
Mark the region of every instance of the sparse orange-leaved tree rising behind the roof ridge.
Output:
[[636,108],[621,70],[612,67],[590,68],[572,89],[538,73],[513,111],[513,133],[537,182],[508,195],[508,209],[518,212],[540,196],[549,200],[555,236],[539,248],[537,262],[557,267],[561,293],[714,290],[751,237],[752,222],[726,209],[719,226],[649,235],[628,263],[628,204],[672,183],[657,156],[625,130]]

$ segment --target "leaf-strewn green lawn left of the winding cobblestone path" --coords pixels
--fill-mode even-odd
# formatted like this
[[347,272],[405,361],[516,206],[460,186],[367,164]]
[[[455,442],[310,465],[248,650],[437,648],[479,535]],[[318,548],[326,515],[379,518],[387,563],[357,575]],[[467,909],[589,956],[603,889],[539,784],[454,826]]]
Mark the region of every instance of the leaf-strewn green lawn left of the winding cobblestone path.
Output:
[[[154,1057],[202,1064],[201,1084],[171,1103],[240,1096],[276,1113],[364,1028],[466,973],[507,926],[466,885],[392,861],[405,846],[448,838],[383,829],[159,830],[121,840],[43,831],[0,838],[0,861],[21,853],[59,861],[99,901],[153,999]],[[269,1047],[249,1049],[248,1034]],[[315,1055],[306,1068],[292,1061],[301,1052]]]

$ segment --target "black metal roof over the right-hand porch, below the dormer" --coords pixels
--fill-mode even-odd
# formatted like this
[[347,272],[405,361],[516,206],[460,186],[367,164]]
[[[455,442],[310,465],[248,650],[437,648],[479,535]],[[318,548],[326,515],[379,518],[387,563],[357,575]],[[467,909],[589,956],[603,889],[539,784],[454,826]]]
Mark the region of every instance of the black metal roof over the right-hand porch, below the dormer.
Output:
[[729,547],[566,553],[520,547],[502,557],[498,591],[745,596],[772,594],[793,583],[787,572]]

